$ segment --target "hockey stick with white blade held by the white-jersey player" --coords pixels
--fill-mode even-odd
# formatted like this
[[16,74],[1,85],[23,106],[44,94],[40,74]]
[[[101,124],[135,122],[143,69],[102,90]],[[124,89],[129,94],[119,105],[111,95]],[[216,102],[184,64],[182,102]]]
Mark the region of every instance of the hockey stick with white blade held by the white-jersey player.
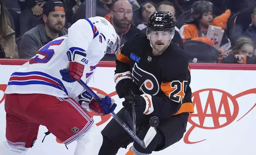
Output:
[[[94,91],[91,90],[90,87],[88,87],[81,79],[78,81],[78,83],[80,83],[80,85],[91,95],[93,96],[93,98],[99,103],[101,101],[101,98],[99,98],[99,96],[94,93]],[[155,137],[155,135],[157,134],[156,129],[154,127],[150,127],[149,130],[147,131],[147,134],[144,138],[144,140],[140,140],[140,138],[138,138],[136,136],[136,134],[134,134],[134,132],[122,121],[122,119],[120,119],[116,113],[111,112],[111,116],[117,121],[118,124],[120,124],[124,130],[126,130],[126,132],[128,132],[128,134],[130,134],[130,136],[136,141],[138,142],[138,144],[140,144],[140,146],[142,146],[144,149],[149,145],[149,143],[153,140],[153,138]]]

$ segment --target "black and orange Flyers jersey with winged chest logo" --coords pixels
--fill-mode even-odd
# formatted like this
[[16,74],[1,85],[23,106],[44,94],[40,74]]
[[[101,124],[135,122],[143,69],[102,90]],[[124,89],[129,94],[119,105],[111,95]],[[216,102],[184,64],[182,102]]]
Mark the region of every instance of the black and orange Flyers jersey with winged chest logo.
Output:
[[190,67],[178,44],[171,42],[162,55],[153,56],[150,42],[143,35],[124,43],[116,56],[115,82],[132,77],[149,107],[153,105],[152,115],[164,118],[194,112]]

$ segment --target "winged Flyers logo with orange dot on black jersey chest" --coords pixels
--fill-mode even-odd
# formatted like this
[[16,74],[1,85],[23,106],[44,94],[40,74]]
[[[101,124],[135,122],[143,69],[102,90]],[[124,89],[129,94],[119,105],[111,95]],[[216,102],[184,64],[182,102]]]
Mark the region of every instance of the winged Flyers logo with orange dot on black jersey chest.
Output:
[[153,74],[139,68],[137,63],[132,68],[132,77],[143,93],[154,96],[159,92],[157,78]]

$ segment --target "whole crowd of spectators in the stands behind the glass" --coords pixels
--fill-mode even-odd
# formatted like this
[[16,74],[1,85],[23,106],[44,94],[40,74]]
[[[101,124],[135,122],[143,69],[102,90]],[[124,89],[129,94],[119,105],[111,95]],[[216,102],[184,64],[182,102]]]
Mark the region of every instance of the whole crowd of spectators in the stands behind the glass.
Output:
[[[61,1],[61,2],[60,2]],[[0,58],[31,59],[86,18],[85,0],[0,0]],[[256,64],[256,0],[96,0],[96,16],[118,34],[118,47],[145,33],[154,11],[175,18],[173,42],[191,63]],[[115,61],[106,54],[103,61]]]

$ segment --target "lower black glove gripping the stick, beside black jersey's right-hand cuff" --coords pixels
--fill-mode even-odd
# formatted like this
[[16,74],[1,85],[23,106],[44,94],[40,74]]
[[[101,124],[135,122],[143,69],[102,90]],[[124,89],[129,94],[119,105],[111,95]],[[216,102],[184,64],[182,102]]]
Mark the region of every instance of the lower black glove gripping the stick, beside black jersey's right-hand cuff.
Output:
[[128,111],[132,111],[132,104],[135,106],[135,112],[144,113],[146,108],[146,101],[142,96],[139,95],[128,95],[124,97],[124,102],[122,103],[124,108]]

